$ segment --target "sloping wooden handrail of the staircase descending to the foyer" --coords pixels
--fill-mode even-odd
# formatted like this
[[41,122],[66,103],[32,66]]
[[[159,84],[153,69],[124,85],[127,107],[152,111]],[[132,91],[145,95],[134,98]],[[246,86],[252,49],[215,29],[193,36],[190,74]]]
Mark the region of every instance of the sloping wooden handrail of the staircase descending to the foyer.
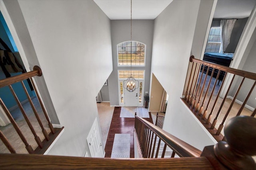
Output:
[[149,121],[135,116],[136,119],[139,119],[146,125],[151,131],[153,131],[164,143],[168,145],[176,154],[180,157],[199,157],[202,153],[200,150],[189,145],[188,143],[178,139],[177,137],[171,135],[170,133],[160,129],[156,125],[153,125]]

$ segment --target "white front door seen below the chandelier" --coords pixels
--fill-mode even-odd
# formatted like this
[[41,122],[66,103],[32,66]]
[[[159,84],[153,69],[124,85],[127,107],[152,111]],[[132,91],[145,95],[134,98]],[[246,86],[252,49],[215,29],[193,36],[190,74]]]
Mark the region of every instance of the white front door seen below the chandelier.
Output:
[[139,93],[138,88],[135,89],[133,92],[128,92],[124,90],[124,105],[125,106],[138,106],[139,102]]

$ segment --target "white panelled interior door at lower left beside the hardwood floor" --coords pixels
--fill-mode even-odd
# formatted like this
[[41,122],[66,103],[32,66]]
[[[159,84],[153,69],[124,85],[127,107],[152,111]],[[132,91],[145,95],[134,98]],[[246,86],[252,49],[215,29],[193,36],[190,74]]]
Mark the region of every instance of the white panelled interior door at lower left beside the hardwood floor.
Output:
[[95,119],[92,128],[87,137],[87,143],[92,157],[104,158],[103,146],[100,140],[100,131],[98,128],[97,118]]

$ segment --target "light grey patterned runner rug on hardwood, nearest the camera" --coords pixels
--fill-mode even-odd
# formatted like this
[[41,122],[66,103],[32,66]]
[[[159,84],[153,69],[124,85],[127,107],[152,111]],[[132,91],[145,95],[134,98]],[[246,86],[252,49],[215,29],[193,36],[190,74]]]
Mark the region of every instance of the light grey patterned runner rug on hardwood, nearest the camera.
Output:
[[115,134],[111,158],[130,158],[130,134]]

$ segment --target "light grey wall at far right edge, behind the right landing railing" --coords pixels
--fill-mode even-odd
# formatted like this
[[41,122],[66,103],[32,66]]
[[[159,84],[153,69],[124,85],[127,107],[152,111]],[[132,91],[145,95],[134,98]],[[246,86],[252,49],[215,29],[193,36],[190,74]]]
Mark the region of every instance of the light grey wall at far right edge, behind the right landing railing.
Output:
[[[255,31],[254,31],[254,34],[255,34]],[[244,66],[242,67],[242,70],[256,73],[256,41],[254,41],[252,45],[250,53],[244,63]],[[236,90],[238,89],[238,86],[240,85],[241,81],[242,81],[242,78],[239,77],[230,96],[234,97]],[[244,99],[246,98],[246,96],[248,95],[248,92],[252,88],[253,83],[254,83],[254,80],[250,80],[247,78],[244,80],[243,86],[240,89],[240,92],[238,93],[239,95],[237,97],[237,100],[239,100],[240,102],[244,102]],[[256,87],[252,91],[252,94],[250,95],[250,98],[248,99],[246,104],[253,108],[256,108],[255,98],[256,98]]]

